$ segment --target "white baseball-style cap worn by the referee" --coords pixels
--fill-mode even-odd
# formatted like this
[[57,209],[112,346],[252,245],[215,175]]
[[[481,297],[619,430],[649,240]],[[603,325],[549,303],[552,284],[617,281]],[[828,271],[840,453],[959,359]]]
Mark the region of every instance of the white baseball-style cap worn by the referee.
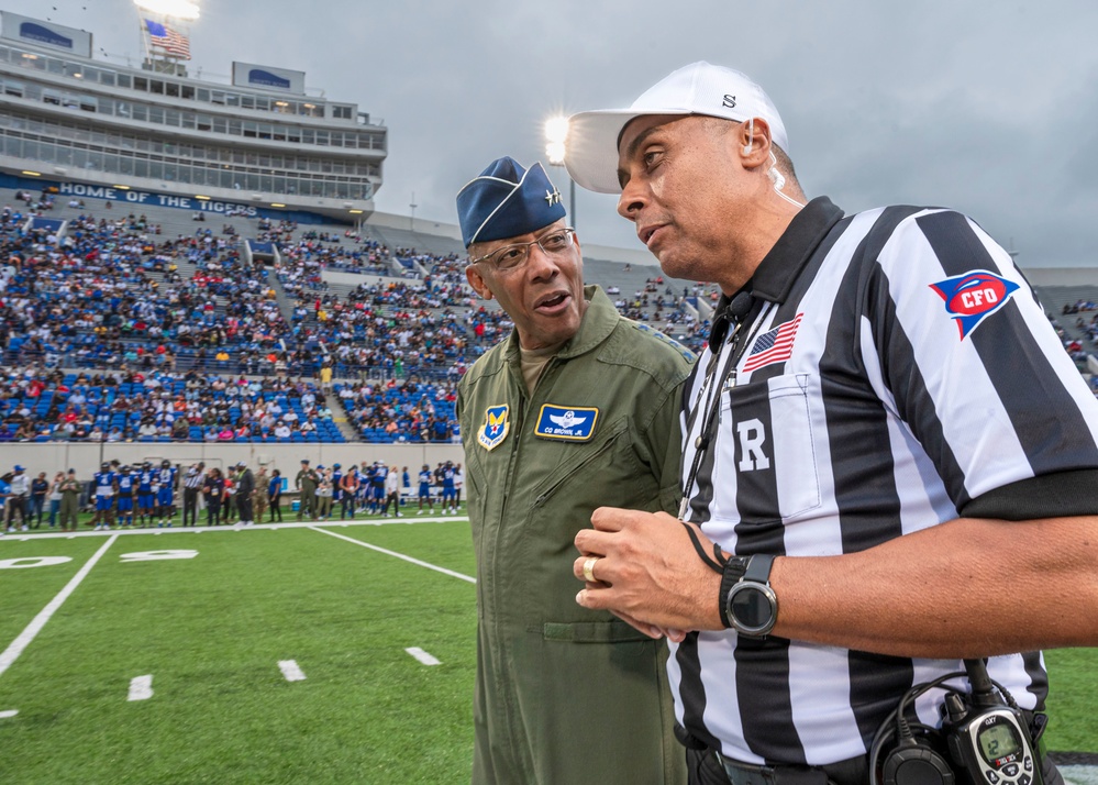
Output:
[[625,125],[645,114],[705,114],[735,122],[762,118],[774,143],[789,152],[785,123],[763,88],[746,74],[701,60],[664,77],[628,109],[573,114],[565,145],[572,178],[592,191],[620,194],[618,142]]

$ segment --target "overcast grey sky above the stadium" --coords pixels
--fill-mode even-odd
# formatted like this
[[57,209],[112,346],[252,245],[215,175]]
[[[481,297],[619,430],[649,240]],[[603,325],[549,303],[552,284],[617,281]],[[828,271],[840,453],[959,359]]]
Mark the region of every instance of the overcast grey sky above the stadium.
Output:
[[[453,223],[487,164],[544,159],[543,122],[629,106],[694,60],[775,101],[809,196],[967,212],[1022,266],[1095,265],[1094,0],[199,0],[192,73],[235,60],[306,71],[389,130],[377,209]],[[131,0],[0,0],[140,58]],[[228,78],[228,77],[225,77]],[[563,194],[567,176],[551,169]],[[641,247],[615,199],[577,189],[581,239]]]

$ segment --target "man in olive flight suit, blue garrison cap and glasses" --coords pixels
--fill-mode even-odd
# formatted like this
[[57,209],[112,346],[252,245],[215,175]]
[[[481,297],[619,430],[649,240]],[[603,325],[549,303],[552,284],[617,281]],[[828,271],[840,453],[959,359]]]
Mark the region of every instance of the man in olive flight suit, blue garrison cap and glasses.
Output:
[[466,278],[514,323],[457,396],[477,560],[473,782],[681,782],[667,648],[576,605],[569,544],[599,505],[676,508],[689,352],[585,289],[541,164],[500,158],[457,209]]

